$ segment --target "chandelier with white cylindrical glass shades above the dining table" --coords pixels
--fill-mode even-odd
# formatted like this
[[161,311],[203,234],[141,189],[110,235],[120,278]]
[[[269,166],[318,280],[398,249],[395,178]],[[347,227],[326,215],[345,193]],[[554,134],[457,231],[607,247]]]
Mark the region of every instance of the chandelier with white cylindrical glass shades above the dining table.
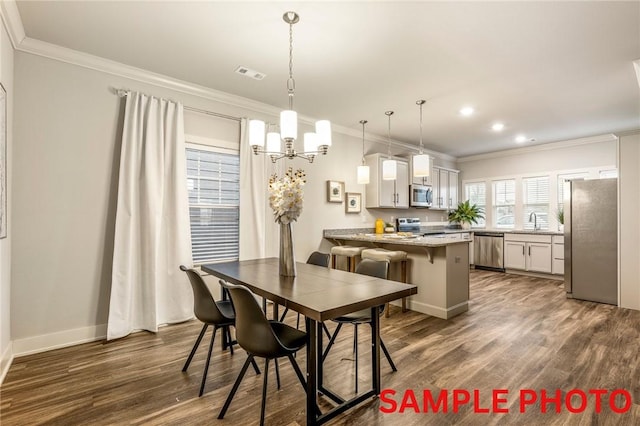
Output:
[[[304,134],[304,151],[298,152],[294,142],[298,138],[298,114],[293,110],[293,97],[295,95],[296,82],[293,79],[293,24],[300,20],[295,12],[286,12],[282,19],[289,24],[289,79],[287,80],[287,92],[289,95],[289,109],[280,113],[280,133],[269,131],[266,137],[265,149],[265,122],[261,120],[249,120],[249,144],[253,153],[266,154],[272,162],[281,158],[304,158],[310,163],[318,154],[326,155],[331,146],[331,122],[329,120],[316,121],[315,133]],[[275,127],[275,126],[274,126]],[[281,142],[284,141],[284,151]]]

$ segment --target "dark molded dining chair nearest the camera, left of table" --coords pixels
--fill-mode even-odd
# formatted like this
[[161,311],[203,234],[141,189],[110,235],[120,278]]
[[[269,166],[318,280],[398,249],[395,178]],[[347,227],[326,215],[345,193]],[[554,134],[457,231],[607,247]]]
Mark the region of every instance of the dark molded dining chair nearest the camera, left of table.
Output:
[[[307,333],[300,331],[280,321],[267,320],[264,312],[258,305],[253,293],[245,286],[234,285],[226,282],[222,286],[229,290],[231,301],[236,312],[236,339],[241,348],[247,352],[245,361],[233,388],[218,415],[218,419],[224,418],[231,401],[244,378],[249,364],[255,357],[264,358],[264,377],[262,383],[262,404],[260,408],[260,425],[264,425],[264,413],[267,400],[267,380],[269,376],[269,361],[287,357],[302,384],[307,388],[300,367],[293,358],[293,354],[302,349],[307,343]],[[280,380],[278,379],[278,389]],[[317,407],[316,407],[317,409]]]

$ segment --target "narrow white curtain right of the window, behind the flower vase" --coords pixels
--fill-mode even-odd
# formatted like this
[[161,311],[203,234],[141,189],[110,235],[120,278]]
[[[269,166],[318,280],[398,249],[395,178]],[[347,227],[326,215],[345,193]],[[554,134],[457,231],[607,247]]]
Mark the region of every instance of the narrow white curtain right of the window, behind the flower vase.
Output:
[[240,122],[240,260],[266,257],[267,220],[271,219],[267,212],[268,157],[253,153],[248,133],[247,119],[243,118]]

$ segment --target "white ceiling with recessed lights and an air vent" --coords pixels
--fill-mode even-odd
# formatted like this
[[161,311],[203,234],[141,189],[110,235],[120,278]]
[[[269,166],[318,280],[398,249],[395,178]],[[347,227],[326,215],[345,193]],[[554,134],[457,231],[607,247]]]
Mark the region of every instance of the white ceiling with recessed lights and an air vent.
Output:
[[[640,128],[640,2],[18,1],[26,36],[456,157]],[[261,81],[234,73],[246,66]],[[640,66],[640,63],[639,63]],[[473,106],[463,117],[459,110]],[[497,133],[494,122],[504,123]],[[535,141],[530,141],[535,139]]]

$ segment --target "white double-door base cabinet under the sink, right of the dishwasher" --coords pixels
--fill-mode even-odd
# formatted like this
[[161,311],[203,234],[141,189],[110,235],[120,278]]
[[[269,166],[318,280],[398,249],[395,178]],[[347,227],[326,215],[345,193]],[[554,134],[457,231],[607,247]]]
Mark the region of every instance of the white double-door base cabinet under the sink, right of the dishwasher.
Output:
[[504,266],[551,273],[551,235],[504,234]]

